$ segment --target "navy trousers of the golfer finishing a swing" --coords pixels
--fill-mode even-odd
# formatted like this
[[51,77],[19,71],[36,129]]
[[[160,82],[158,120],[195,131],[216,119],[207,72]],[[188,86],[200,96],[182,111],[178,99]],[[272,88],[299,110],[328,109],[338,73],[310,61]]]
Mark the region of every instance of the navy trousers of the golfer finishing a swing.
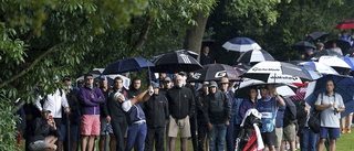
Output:
[[144,142],[146,138],[147,127],[146,123],[132,125],[128,127],[128,138],[125,151],[132,151],[134,145],[137,151],[144,151]]

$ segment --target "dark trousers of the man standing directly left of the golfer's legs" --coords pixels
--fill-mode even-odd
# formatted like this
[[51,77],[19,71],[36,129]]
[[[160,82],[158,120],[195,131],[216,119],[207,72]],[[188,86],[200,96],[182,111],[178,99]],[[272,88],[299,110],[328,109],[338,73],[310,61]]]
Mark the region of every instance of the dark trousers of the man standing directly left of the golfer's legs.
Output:
[[124,151],[125,150],[124,134],[125,134],[126,129],[128,127],[126,123],[126,120],[125,120],[125,118],[124,119],[112,118],[111,125],[112,125],[113,133],[114,133],[116,142],[117,142],[116,143],[116,151]]

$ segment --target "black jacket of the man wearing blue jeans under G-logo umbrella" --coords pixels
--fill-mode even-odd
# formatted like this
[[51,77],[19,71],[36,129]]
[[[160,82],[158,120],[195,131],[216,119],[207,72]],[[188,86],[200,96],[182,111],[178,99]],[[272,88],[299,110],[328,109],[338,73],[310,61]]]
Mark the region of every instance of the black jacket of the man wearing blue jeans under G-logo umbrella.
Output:
[[205,103],[205,115],[207,122],[225,123],[230,120],[230,103],[226,94],[217,90],[215,94],[209,94]]

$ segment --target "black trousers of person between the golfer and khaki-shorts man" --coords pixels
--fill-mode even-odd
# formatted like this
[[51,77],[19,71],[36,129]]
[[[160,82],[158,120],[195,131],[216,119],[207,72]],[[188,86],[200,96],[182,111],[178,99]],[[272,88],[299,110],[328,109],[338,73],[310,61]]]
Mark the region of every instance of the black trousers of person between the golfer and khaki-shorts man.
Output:
[[152,128],[147,127],[147,136],[145,140],[145,151],[154,150],[154,141],[155,141],[155,150],[164,151],[164,137],[165,137],[165,127]]

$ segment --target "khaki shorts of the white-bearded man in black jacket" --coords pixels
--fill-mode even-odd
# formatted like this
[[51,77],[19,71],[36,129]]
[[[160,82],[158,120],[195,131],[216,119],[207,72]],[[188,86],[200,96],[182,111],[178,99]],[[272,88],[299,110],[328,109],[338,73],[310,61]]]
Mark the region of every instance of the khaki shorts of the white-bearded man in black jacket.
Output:
[[177,138],[178,130],[180,130],[180,138],[190,137],[190,125],[188,116],[184,119],[178,120],[169,116],[168,137]]

